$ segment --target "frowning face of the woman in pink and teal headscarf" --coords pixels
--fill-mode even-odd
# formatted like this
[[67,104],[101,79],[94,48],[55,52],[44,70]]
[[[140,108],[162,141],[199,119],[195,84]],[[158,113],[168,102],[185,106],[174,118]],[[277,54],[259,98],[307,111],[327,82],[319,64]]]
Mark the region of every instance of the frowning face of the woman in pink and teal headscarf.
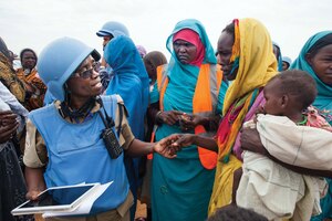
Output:
[[173,42],[173,49],[175,51],[176,57],[183,64],[190,64],[196,59],[197,49],[194,44],[184,41],[176,40]]

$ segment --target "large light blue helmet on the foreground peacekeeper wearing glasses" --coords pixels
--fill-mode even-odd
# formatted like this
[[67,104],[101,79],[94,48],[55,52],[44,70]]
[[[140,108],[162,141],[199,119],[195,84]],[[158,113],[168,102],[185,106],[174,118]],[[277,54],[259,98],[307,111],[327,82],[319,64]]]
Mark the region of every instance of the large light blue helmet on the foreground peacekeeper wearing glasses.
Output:
[[64,83],[89,55],[95,61],[101,59],[95,49],[71,38],[58,39],[40,53],[37,64],[39,75],[56,99],[64,101]]

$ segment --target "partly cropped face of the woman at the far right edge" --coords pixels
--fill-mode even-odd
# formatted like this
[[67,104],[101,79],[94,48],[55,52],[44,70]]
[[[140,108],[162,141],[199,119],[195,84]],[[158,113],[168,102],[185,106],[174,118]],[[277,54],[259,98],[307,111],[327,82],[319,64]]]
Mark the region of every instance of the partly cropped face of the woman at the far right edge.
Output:
[[314,55],[307,54],[307,61],[315,75],[332,86],[332,44],[323,46]]

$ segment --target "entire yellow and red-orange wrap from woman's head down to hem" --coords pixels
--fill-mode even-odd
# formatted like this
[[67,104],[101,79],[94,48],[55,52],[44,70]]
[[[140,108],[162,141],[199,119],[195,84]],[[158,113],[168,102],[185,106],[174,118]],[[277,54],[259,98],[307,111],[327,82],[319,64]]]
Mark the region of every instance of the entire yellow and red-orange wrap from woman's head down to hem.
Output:
[[[226,177],[232,176],[232,172],[241,166],[240,161],[231,154],[234,144],[239,136],[246,115],[259,94],[259,88],[263,87],[277,74],[277,60],[272,53],[272,41],[268,30],[255,19],[241,19],[238,22],[239,33],[235,32],[235,42],[237,42],[237,34],[239,34],[239,69],[236,80],[226,92],[224,118],[217,133],[219,161],[210,199],[209,215],[218,207],[230,203],[231,191],[229,190],[232,188],[232,182],[222,183],[221,181]],[[235,50],[234,53],[236,53]],[[225,170],[225,168],[228,169]]]

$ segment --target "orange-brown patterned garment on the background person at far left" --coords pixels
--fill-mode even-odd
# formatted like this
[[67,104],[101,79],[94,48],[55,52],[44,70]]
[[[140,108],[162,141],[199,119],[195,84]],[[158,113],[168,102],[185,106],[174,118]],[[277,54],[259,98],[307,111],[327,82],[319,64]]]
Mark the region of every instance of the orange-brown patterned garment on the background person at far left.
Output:
[[38,76],[37,70],[33,69],[30,74],[25,75],[23,69],[17,71],[17,76],[25,84],[24,107],[30,112],[43,106],[46,86]]

